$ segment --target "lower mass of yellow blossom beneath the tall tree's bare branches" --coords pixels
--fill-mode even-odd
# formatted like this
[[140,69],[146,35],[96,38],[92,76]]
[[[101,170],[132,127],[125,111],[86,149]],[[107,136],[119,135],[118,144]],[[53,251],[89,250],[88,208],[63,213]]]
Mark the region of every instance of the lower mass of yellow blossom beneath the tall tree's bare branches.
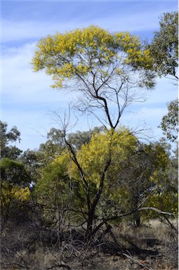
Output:
[[[112,166],[108,172],[119,170],[120,160],[128,157],[128,153],[134,150],[136,146],[135,137],[130,134],[128,129],[120,131],[107,131],[105,134],[94,134],[91,142],[81,147],[77,153],[81,167],[84,169],[86,179],[92,181],[98,187],[100,183],[100,174],[109,158],[112,159]],[[75,173],[76,172],[76,173]],[[72,166],[72,175],[79,178],[77,167]]]

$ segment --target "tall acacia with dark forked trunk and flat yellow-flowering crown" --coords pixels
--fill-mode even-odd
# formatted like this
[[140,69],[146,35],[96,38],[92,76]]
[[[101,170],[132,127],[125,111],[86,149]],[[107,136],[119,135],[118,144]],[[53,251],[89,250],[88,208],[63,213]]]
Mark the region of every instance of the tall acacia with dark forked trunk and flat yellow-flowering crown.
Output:
[[[149,50],[142,47],[138,37],[128,32],[110,34],[99,27],[91,26],[41,39],[32,64],[35,71],[44,69],[48,75],[52,75],[55,82],[53,87],[79,91],[80,98],[76,108],[92,113],[106,129],[111,129],[111,143],[107,148],[104,164],[100,167],[98,189],[91,198],[85,169],[73,146],[67,141],[67,124],[63,126],[65,145],[78,168],[86,193],[86,238],[90,239],[95,210],[104,189],[105,175],[112,164],[115,129],[126,106],[140,97],[135,90],[154,86],[152,58]],[[102,110],[105,117],[99,117],[98,110]]]

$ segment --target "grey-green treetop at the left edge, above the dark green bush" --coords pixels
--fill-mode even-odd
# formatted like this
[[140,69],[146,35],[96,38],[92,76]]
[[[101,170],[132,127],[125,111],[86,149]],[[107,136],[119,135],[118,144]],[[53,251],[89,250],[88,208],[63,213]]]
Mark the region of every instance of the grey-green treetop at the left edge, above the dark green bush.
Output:
[[9,146],[9,143],[20,142],[20,131],[17,127],[12,127],[10,131],[7,131],[8,124],[0,121],[0,148],[1,158],[16,159],[22,153],[22,150],[16,146]]

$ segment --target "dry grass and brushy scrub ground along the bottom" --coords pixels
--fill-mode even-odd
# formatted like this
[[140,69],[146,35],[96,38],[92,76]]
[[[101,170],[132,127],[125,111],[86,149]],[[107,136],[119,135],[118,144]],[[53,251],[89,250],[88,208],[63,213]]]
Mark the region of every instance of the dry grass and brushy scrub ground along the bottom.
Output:
[[8,224],[1,233],[1,269],[178,269],[178,237],[165,224],[153,220],[139,228],[123,224],[112,231],[129,257],[112,250],[111,236],[93,247],[64,242],[58,246],[54,231]]

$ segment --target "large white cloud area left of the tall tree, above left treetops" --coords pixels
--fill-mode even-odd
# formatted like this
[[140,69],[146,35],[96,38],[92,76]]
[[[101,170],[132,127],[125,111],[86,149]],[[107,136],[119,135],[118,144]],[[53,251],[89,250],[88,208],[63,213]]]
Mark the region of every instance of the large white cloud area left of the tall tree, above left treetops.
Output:
[[9,127],[16,125],[22,141],[20,148],[37,148],[53,127],[49,110],[67,108],[73,95],[51,89],[51,79],[44,72],[33,72],[29,64],[35,44],[4,48],[2,55],[1,117]]

